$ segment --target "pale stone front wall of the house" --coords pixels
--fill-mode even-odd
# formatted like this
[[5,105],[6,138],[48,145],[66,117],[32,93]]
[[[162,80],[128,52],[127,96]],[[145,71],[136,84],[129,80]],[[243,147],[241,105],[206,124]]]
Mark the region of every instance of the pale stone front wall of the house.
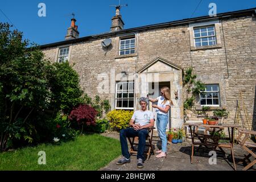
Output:
[[[81,87],[90,97],[97,94],[98,83],[104,80],[101,78],[104,74],[108,75],[109,84],[113,82],[110,77],[116,76],[122,71],[126,71],[130,76],[135,76],[138,69],[156,57],[163,57],[183,69],[193,67],[196,75],[203,82],[220,84],[221,106],[225,106],[230,111],[227,122],[234,122],[236,100],[240,100],[240,92],[242,92],[250,125],[253,120],[253,112],[255,125],[255,17],[225,19],[218,26],[221,34],[221,47],[191,51],[188,25],[174,26],[136,32],[137,55],[133,57],[117,56],[119,37],[109,37],[112,39],[112,46],[108,49],[101,46],[101,42],[105,38],[72,44],[69,61],[75,63],[74,68],[79,73]],[[44,49],[43,52],[46,57],[56,61],[57,47]],[[110,74],[110,70],[114,73]],[[113,89],[113,85],[105,88],[106,92],[101,93],[100,97],[109,99],[113,108],[114,93],[110,92],[111,88]],[[183,90],[183,99],[184,97],[185,90]],[[192,120],[201,119],[191,112],[188,112],[188,117]]]

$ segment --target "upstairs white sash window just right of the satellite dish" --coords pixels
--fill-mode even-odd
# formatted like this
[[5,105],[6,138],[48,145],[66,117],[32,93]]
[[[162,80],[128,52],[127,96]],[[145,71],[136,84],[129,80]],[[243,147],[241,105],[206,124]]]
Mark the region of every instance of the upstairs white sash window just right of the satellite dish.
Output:
[[135,38],[121,39],[119,43],[119,55],[135,53]]

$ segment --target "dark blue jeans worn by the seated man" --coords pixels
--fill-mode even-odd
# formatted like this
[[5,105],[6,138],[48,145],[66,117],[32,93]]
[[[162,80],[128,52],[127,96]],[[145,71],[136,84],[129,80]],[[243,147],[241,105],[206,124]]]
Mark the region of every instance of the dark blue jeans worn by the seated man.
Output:
[[147,129],[141,129],[141,130],[134,130],[133,128],[129,127],[127,129],[122,129],[120,131],[120,143],[121,143],[121,149],[122,149],[122,155],[125,156],[126,159],[130,158],[130,154],[128,151],[128,145],[127,145],[127,137],[139,137],[139,146],[138,146],[138,153],[137,153],[137,159],[143,159],[144,160],[144,150],[146,146],[146,137],[148,135]]

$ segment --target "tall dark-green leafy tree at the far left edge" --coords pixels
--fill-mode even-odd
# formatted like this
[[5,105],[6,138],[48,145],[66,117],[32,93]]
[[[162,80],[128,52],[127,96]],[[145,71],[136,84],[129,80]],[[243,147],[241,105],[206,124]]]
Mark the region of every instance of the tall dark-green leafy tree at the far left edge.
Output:
[[32,142],[30,116],[49,104],[46,70],[51,65],[38,48],[28,49],[28,44],[22,32],[0,23],[0,151],[11,138],[23,136]]

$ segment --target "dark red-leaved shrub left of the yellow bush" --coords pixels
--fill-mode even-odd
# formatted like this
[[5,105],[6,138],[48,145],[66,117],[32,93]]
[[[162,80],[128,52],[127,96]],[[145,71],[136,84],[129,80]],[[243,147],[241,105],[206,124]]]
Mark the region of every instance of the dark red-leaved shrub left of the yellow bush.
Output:
[[80,104],[78,107],[73,109],[69,114],[68,118],[73,120],[75,119],[79,125],[86,123],[86,125],[96,125],[95,118],[97,111],[86,104]]

